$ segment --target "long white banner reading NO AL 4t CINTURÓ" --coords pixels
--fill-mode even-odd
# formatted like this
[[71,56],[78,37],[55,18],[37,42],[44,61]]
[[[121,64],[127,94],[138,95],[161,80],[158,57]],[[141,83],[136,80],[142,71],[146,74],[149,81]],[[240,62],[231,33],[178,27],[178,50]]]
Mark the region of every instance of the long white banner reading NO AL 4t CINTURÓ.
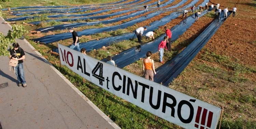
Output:
[[58,44],[62,65],[99,87],[186,129],[216,129],[221,108]]

